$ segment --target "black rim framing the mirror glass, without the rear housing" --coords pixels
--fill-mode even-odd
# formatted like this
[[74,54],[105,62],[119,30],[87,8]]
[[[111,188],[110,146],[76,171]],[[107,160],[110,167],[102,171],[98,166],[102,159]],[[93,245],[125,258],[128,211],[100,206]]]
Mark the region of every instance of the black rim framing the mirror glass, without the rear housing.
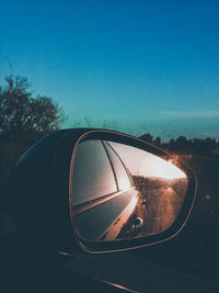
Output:
[[[77,142],[74,149],[73,149],[73,155],[71,159],[71,166],[73,165],[74,156],[77,154],[77,146],[82,142],[83,139],[89,140],[89,139],[96,139],[96,140],[110,140],[110,142],[115,142],[119,144],[125,144],[131,147],[136,147],[142,150],[146,150],[150,154],[153,154],[158,157],[164,158],[164,159],[171,159],[170,155],[166,151],[163,151],[150,144],[147,144],[145,142],[141,142],[138,138],[131,137],[126,134],[120,134],[120,133],[115,133],[112,131],[102,131],[102,129],[91,129],[87,133],[84,133]],[[193,171],[186,167],[183,166],[181,162],[181,166],[183,168],[183,171],[186,173],[188,178],[188,188],[185,196],[185,201],[183,204],[183,209],[181,210],[176,221],[171,225],[170,228],[166,230],[163,230],[162,233],[159,233],[157,235],[151,235],[148,237],[136,237],[131,239],[119,239],[119,240],[110,240],[110,241],[92,241],[92,240],[87,240],[84,238],[81,238],[79,233],[77,233],[77,227],[73,218],[73,211],[71,210],[71,221],[72,221],[72,227],[73,227],[73,233],[76,240],[78,245],[85,251],[89,252],[106,252],[106,251],[119,251],[119,250],[125,250],[125,249],[134,249],[134,248],[139,248],[139,247],[145,247],[153,244],[159,244],[161,241],[168,240],[175,236],[185,225],[189,213],[192,211],[194,200],[195,200],[195,194],[196,194],[196,178],[193,173]],[[72,170],[72,168],[71,168]],[[71,189],[71,179],[72,174],[70,174],[70,181],[69,181],[69,189]],[[69,191],[69,194],[72,191]],[[71,205],[71,198],[69,198],[70,206]]]

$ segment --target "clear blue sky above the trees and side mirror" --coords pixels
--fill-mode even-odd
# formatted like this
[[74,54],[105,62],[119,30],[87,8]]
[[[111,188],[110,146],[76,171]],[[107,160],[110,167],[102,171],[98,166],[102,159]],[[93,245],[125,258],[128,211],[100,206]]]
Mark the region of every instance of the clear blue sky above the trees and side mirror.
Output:
[[26,76],[65,127],[219,138],[218,15],[217,0],[3,0],[0,83]]

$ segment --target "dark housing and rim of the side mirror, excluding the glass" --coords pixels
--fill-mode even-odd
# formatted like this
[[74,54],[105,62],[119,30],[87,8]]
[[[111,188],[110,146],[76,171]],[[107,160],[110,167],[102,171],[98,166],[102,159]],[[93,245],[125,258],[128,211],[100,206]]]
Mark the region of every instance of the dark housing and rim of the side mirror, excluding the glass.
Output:
[[[76,128],[59,131],[33,145],[18,161],[11,179],[11,207],[22,237],[31,246],[50,251],[80,248],[89,252],[135,249],[165,241],[184,227],[196,194],[196,178],[182,162],[175,162],[188,179],[183,206],[174,223],[161,233],[107,241],[80,237],[72,210],[72,168],[82,140],[114,142],[150,153],[164,160],[170,155],[130,135],[114,131]],[[177,165],[178,164],[178,165]],[[138,223],[137,223],[138,222]],[[136,230],[141,229],[141,219]]]

